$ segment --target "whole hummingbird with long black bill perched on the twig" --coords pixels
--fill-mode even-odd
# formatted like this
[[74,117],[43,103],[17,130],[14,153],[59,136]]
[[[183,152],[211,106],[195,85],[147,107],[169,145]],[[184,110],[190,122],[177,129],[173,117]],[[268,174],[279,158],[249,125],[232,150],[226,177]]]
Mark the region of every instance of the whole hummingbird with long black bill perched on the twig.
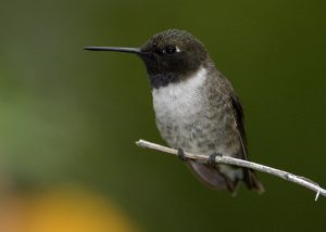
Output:
[[[143,61],[156,127],[199,180],[233,194],[241,181],[250,190],[264,191],[252,169],[214,163],[217,155],[248,160],[243,109],[200,40],[186,30],[168,29],[140,48],[85,49],[134,53]],[[206,155],[209,162],[186,159],[184,152]]]

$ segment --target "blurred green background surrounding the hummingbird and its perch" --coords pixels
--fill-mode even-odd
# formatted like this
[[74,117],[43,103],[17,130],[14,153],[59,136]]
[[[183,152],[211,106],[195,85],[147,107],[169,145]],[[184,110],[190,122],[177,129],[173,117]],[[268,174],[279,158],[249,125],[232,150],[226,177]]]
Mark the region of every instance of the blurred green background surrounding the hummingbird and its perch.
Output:
[[141,61],[83,51],[191,31],[240,95],[251,159],[326,186],[325,24],[323,0],[2,0],[2,197],[77,186],[140,231],[326,231],[325,198],[306,189],[260,173],[265,194],[231,197],[137,147],[164,143]]

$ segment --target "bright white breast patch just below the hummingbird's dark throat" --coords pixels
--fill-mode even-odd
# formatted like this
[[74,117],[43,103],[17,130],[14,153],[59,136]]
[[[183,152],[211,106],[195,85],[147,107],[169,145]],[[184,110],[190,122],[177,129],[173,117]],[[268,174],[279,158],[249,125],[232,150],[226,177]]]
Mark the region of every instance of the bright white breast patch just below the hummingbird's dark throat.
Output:
[[199,111],[200,87],[204,83],[205,78],[206,69],[200,68],[186,80],[153,89],[153,106],[156,118],[170,116],[172,119],[178,119]]

